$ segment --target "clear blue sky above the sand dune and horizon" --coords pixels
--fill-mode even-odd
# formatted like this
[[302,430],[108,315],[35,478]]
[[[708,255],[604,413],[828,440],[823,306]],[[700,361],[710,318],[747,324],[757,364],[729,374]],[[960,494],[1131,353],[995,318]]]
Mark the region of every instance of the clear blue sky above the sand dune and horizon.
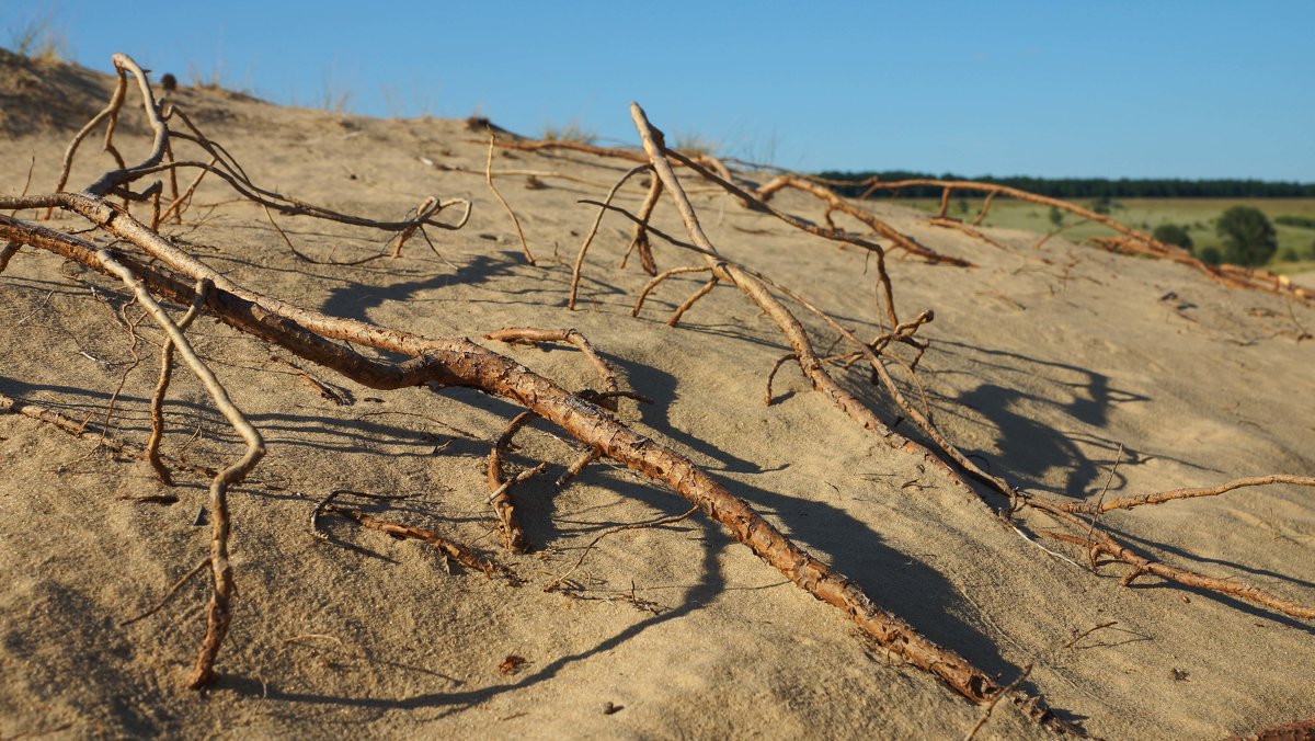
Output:
[[[806,5],[815,5],[806,8]],[[1315,1],[0,0],[68,55],[371,116],[577,120],[801,170],[1315,182]]]

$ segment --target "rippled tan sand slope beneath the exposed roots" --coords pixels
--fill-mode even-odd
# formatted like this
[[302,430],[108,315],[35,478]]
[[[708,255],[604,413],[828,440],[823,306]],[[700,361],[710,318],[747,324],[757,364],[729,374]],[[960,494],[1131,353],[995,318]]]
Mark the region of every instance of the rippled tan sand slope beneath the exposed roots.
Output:
[[[30,190],[45,192],[68,138],[108,99],[110,78],[3,62],[0,192],[24,190],[33,158]],[[1123,587],[1123,567],[1093,574],[1076,549],[1047,541],[1077,563],[1049,555],[940,473],[860,429],[797,367],[777,374],[765,405],[765,376],[788,347],[735,290],[718,288],[669,328],[667,315],[701,280],[677,278],[631,317],[648,276],[635,261],[617,267],[630,233],[621,217],[604,220],[581,304],[567,311],[569,262],[596,215],[577,200],[601,199],[631,163],[496,155],[496,171],[573,178],[540,176],[542,190],[526,188],[525,175],[498,178],[540,257],[534,267],[484,183],[487,147],[463,121],[380,121],[189,89],[176,100],[256,183],[287,195],[376,218],[400,218],[431,195],[473,201],[464,229],[430,232],[437,255],[417,238],[396,261],[313,265],[292,254],[259,208],[212,179],[187,222],[164,232],[233,280],[431,337],[577,328],[615,365],[623,388],[655,401],[623,401],[623,421],[689,455],[881,605],[1002,682],[1032,665],[1023,688],[1089,733],[1212,738],[1315,717],[1310,621],[1153,578]],[[659,126],[681,125],[648,113]],[[129,162],[147,151],[138,108],[116,142]],[[71,183],[108,167],[93,136]],[[860,336],[880,332],[864,253],[692,190],[722,253]],[[635,209],[643,193],[627,186],[618,204]],[[773,203],[823,218],[800,193]],[[1311,308],[1227,290],[1168,262],[1060,238],[1035,250],[1035,234],[989,230],[1002,249],[913,211],[874,208],[923,243],[977,263],[896,259],[890,274],[906,317],[935,311],[919,333],[931,341],[918,369],[927,404],[994,474],[1093,501],[1107,479],[1112,498],[1315,474],[1315,341],[1299,340],[1315,330]],[[309,218],[279,224],[317,259],[368,257],[387,238]],[[655,225],[682,234],[665,203]],[[57,216],[54,226],[84,224]],[[655,249],[659,267],[693,263],[668,245]],[[139,312],[125,304],[120,284],[49,253],[20,251],[0,275],[0,394],[100,429],[122,383],[113,433],[145,441],[160,336],[147,320],[134,347],[116,315]],[[805,324],[825,350],[831,334]],[[602,463],[559,488],[577,451],[558,430],[531,426],[510,463],[550,463],[515,490],[534,548],[502,553],[484,466],[518,411],[508,403],[468,391],[377,392],[297,361],[342,390],[350,403],[337,405],[277,347],[208,319],[189,337],[268,441],[268,457],[230,496],[239,594],[221,675],[203,692],[183,687],[204,632],[205,579],[188,582],[156,615],[121,625],[208,553],[209,528],[193,525],[205,476],[179,471],[168,490],[145,463],[97,449],[96,436],[0,413],[0,738],[911,738],[961,737],[978,717],[934,677],[864,644],[843,615],[701,515],[609,536],[572,575],[576,592],[544,592],[600,532],[680,515],[686,504]],[[596,384],[576,350],[488,345],[568,388]],[[867,374],[842,378],[894,416]],[[241,446],[200,386],[183,371],[174,383],[166,454],[206,466],[233,461]],[[907,422],[899,429],[910,432]],[[450,575],[429,546],[338,516],[325,517],[329,541],[316,540],[312,508],[334,490],[409,496],[359,505],[472,544],[526,584],[460,567]],[[160,494],[179,501],[126,499]],[[1312,490],[1273,486],[1112,512],[1101,526],[1170,563],[1315,603]],[[509,654],[525,663],[504,674]],[[1048,732],[1002,703],[980,736]]]

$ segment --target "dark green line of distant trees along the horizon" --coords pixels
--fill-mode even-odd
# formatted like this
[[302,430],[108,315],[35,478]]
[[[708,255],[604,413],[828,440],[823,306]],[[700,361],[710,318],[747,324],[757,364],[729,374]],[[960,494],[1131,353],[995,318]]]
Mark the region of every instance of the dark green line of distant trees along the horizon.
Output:
[[[818,172],[827,180],[859,183],[877,176],[885,182],[894,180],[977,180],[1009,186],[1032,193],[1064,200],[1077,199],[1272,199],[1272,197],[1315,197],[1315,183],[1283,183],[1269,180],[1182,180],[1173,178],[964,178],[953,174],[932,175],[906,170],[885,170],[880,172]],[[863,186],[831,186],[843,196],[863,195]],[[894,195],[893,191],[880,191],[878,195]],[[940,188],[910,187],[901,190],[902,197],[940,197]]]

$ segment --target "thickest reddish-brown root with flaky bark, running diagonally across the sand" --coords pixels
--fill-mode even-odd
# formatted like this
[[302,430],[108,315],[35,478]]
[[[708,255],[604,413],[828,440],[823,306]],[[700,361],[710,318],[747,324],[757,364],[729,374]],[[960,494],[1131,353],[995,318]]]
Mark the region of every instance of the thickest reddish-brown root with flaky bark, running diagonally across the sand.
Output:
[[[915,666],[943,678],[965,696],[984,702],[998,691],[998,684],[965,659],[935,646],[898,617],[873,604],[855,584],[839,576],[821,561],[807,555],[763,520],[742,500],[730,495],[688,459],[672,450],[635,434],[611,419],[605,409],[571,395],[550,380],[531,374],[514,361],[493,354],[464,340],[426,340],[360,321],[327,317],[299,309],[276,299],[252,294],[227,278],[184,255],[141,224],[116,213],[103,201],[80,193],[49,196],[53,203],[85,212],[112,233],[129,241],[168,268],[191,268],[209,276],[216,288],[208,295],[208,311],[239,330],[252,333],[310,361],[343,372],[358,383],[373,388],[401,388],[423,383],[468,386],[527,405],[544,419],[562,426],[584,442],[597,446],[608,457],[647,476],[663,482],[697,504],[705,513],[723,524],[735,540],[750,546],[759,557],[780,570],[801,588],[846,611],[860,628],[892,646]],[[95,246],[76,237],[0,216],[0,234],[58,254],[85,261]],[[125,262],[135,263],[130,258]],[[192,290],[168,268],[133,267],[151,288],[179,301],[191,299]],[[391,363],[356,353],[342,340],[367,347],[405,353],[413,359]],[[208,642],[209,645],[209,642]]]

